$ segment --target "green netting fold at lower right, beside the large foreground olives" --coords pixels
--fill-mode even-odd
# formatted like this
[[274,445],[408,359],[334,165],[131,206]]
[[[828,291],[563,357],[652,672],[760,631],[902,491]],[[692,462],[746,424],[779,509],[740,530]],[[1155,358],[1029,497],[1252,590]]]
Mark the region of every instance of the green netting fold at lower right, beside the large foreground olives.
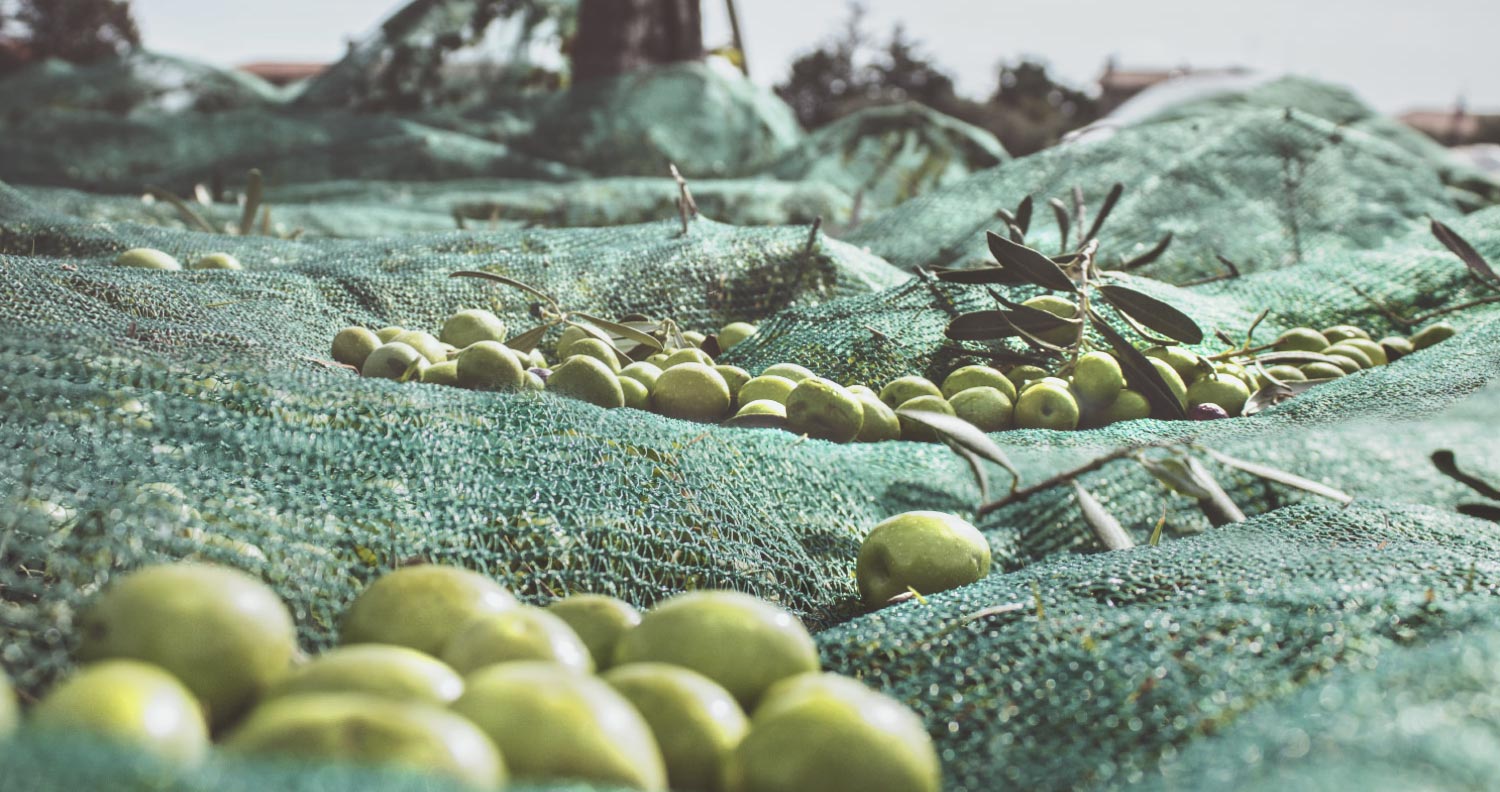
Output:
[[[1204,764],[1234,771],[1254,742],[1214,748],[1208,735],[1239,716],[1322,687],[1335,669],[1368,674],[1404,646],[1492,624],[1497,550],[1494,524],[1450,512],[1294,506],[1155,548],[990,576],[818,639],[836,670],[924,714],[950,792],[1114,789],[1158,780],[1194,740]],[[1420,700],[1390,708],[1396,722],[1437,717]],[[1492,710],[1476,714],[1494,726]],[[1386,759],[1418,774],[1422,753],[1395,753],[1406,742],[1389,736]],[[1312,768],[1304,780],[1336,778],[1317,770],[1328,759],[1336,748],[1302,762]],[[1468,759],[1492,778],[1494,753]],[[1204,783],[1170,788],[1240,788],[1196,780]]]

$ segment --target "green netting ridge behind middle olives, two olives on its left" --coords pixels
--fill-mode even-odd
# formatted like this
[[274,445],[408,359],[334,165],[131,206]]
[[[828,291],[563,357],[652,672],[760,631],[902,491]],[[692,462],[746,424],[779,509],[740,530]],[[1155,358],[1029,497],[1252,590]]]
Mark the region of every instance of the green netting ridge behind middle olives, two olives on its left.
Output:
[[[452,314],[495,310],[519,333],[534,297],[472,278],[484,270],[554,296],[564,309],[674,318],[711,332],[790,304],[876,291],[906,279],[810,228],[738,228],[698,219],[597,230],[452,231],[374,240],[278,240],[98,224],[39,212],[0,189],[0,296],[8,322],[33,332],[87,327],[178,357],[308,364],[351,324],[436,334]],[[213,250],[243,273],[117,267],[124,249],[184,262]],[[556,333],[556,332],[554,332]]]

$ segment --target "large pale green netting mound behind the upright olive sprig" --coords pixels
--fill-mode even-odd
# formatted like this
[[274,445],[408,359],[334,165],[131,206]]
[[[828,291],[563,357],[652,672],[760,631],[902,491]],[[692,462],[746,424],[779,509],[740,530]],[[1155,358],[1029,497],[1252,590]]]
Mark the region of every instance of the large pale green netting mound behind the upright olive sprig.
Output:
[[1028,240],[1053,250],[1059,236],[1047,200],[1071,207],[1080,188],[1098,210],[1114,183],[1125,190],[1104,225],[1102,266],[1170,232],[1166,255],[1137,270],[1170,282],[1221,274],[1216,255],[1240,272],[1274,270],[1377,246],[1425,216],[1458,214],[1426,158],[1306,111],[1246,110],[1066,142],[914,198],[846,238],[908,268],[982,262],[984,232],[1005,230],[998,210],[1030,195]]

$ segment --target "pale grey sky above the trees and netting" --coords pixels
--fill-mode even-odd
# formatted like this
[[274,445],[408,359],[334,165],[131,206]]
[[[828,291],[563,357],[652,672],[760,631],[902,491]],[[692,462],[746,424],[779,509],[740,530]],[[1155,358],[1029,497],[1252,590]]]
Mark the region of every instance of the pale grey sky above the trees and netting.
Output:
[[[396,0],[135,0],[148,46],[236,64],[332,60],[404,3]],[[702,0],[704,38],[729,42],[720,0]],[[922,51],[987,96],[996,64],[1028,54],[1092,87],[1120,68],[1242,64],[1353,87],[1386,112],[1500,111],[1500,0],[868,0],[867,30],[902,22]],[[753,78],[777,82],[834,34],[844,0],[738,0]]]

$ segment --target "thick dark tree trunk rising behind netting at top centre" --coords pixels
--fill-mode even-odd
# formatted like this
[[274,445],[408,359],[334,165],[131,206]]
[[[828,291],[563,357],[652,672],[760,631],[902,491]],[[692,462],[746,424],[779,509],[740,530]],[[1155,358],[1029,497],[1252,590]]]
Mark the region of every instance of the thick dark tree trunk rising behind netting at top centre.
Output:
[[573,81],[704,57],[699,0],[580,0]]

